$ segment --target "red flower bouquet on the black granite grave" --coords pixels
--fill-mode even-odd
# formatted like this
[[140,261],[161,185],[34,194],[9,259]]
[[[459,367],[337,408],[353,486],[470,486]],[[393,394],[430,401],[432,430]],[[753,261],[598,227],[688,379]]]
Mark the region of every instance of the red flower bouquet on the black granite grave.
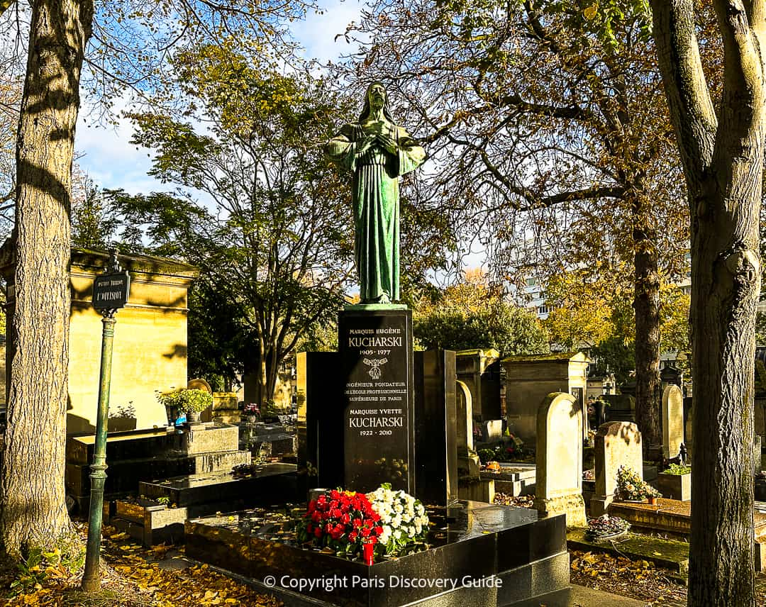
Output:
[[357,553],[363,544],[378,542],[383,533],[380,518],[365,494],[333,489],[309,502],[296,531],[300,542]]

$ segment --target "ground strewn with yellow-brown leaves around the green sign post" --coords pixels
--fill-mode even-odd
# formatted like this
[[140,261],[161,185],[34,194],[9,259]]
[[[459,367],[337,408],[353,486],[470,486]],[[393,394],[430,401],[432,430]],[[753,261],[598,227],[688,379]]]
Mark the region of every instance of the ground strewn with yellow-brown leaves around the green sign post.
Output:
[[[77,525],[85,541],[85,529]],[[79,591],[82,572],[70,574],[61,566],[43,566],[22,572],[26,588],[0,605],[82,605],[82,607],[278,607],[280,601],[221,575],[207,565],[193,565],[183,551],[164,546],[139,546],[127,534],[104,527],[102,542],[103,591]],[[32,568],[34,569],[34,567]],[[47,569],[47,571],[46,571]],[[8,597],[19,571],[5,563],[0,570],[0,596]],[[18,581],[17,581],[18,584]]]

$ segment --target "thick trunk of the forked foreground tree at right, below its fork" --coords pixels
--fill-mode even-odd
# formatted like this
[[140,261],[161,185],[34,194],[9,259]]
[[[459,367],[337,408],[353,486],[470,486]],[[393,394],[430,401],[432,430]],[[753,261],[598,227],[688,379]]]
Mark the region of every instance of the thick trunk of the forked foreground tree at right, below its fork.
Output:
[[709,184],[700,203],[705,211],[692,221],[695,449],[689,605],[695,606],[754,604],[753,384],[761,175],[756,175],[760,168],[752,169],[732,184],[731,198],[722,197],[718,183]]

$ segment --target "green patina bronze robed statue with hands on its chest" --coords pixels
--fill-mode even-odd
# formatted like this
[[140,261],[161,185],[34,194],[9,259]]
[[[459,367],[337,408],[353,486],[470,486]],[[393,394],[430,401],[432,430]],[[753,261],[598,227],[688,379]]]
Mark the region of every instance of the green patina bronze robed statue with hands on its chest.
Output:
[[399,176],[425,160],[424,149],[397,126],[382,83],[368,86],[357,122],[330,139],[327,154],[352,171],[354,252],[363,304],[399,299]]

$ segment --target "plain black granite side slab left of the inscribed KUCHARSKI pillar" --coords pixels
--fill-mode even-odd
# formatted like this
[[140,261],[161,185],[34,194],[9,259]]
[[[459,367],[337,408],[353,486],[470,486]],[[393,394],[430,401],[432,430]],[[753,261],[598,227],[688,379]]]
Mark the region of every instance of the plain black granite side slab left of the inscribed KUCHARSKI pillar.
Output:
[[343,485],[343,403],[337,352],[300,352],[298,483],[300,490]]

